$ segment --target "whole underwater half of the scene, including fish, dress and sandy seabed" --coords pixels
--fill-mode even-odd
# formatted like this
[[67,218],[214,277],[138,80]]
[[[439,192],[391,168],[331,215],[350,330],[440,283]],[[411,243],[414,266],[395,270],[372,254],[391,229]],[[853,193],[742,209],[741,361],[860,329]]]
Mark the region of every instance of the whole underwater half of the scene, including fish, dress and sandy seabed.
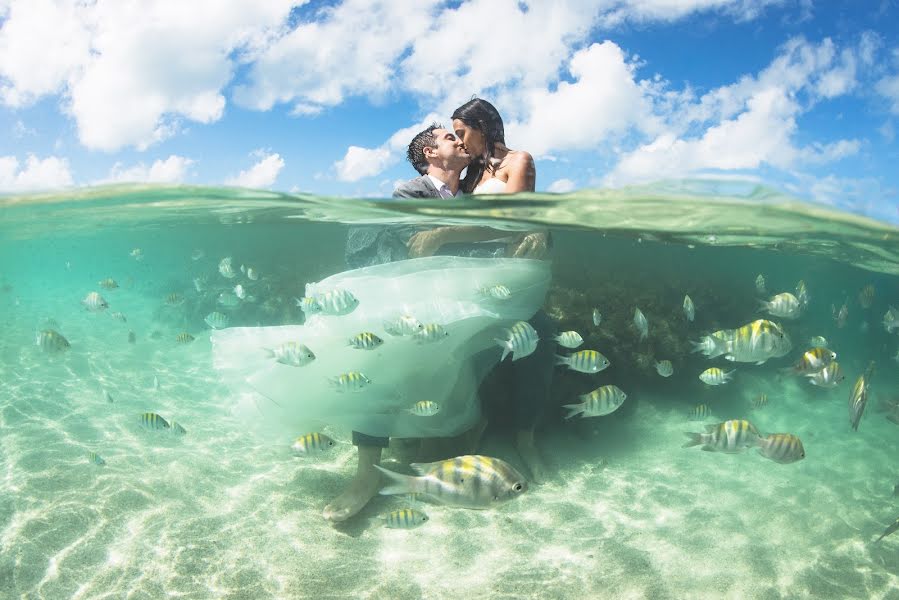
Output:
[[[0,206],[0,597],[899,598],[894,225],[720,181]],[[359,260],[438,227],[496,236]]]

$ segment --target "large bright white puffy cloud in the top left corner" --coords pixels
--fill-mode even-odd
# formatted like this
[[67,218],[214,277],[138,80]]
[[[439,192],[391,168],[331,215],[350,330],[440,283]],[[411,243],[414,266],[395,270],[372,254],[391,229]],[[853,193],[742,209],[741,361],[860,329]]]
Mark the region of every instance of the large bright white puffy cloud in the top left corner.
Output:
[[12,0],[0,29],[0,99],[61,93],[82,144],[146,148],[182,120],[221,118],[233,55],[255,48],[290,0]]

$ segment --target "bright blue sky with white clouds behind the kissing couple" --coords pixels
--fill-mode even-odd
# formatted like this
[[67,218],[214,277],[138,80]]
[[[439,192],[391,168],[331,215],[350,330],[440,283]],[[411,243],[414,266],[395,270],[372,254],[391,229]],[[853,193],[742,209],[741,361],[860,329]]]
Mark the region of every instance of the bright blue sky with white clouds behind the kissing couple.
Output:
[[0,191],[387,196],[478,95],[538,190],[745,177],[899,222],[897,23],[897,0],[0,0]]

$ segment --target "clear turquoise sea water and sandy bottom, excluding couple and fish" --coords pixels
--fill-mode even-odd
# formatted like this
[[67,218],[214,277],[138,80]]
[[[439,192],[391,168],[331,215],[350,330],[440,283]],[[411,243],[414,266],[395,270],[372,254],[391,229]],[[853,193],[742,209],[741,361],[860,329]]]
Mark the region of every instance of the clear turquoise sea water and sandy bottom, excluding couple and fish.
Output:
[[[452,206],[156,187],[0,206],[0,597],[899,598],[899,534],[874,542],[899,517],[899,425],[885,418],[899,401],[899,334],[882,325],[899,307],[893,225],[720,182]],[[206,314],[302,323],[293,298],[346,269],[347,227],[360,222],[552,231],[544,308],[612,364],[555,371],[536,434],[545,482],[489,510],[422,504],[430,519],[412,530],[384,526],[407,504],[389,496],[332,525],[322,509],[355,471],[348,432],[323,429],[336,447],[298,458],[290,444],[305,431],[267,423],[267,400],[250,402],[213,368]],[[228,256],[231,280],[218,271]],[[763,316],[758,274],[771,293],[807,284],[800,318],[769,317],[792,351],[763,365],[692,353],[702,335]],[[108,277],[119,287],[98,287]],[[221,308],[237,282],[255,301]],[[85,310],[91,291],[107,310]],[[46,328],[68,351],[35,344]],[[817,335],[846,376],[833,389],[785,371]],[[669,378],[653,368],[662,359]],[[850,391],[872,361],[852,431]],[[698,374],[711,366],[736,368],[734,380],[706,386]],[[526,473],[506,384],[482,387],[479,453]],[[618,411],[563,420],[562,404],[605,384],[627,392]],[[768,404],[754,408],[761,394]],[[692,420],[698,403],[713,416]],[[143,429],[148,411],[186,435]],[[733,418],[799,436],[805,459],[682,448],[685,432]],[[384,464],[403,471],[402,460],[388,451]]]

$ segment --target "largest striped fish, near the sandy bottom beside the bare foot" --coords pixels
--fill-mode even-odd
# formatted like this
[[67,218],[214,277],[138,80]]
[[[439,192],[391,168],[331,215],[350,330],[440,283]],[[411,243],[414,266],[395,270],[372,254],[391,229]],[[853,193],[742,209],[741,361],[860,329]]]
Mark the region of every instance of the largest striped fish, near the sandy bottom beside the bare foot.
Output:
[[433,463],[412,463],[418,477],[375,465],[387,478],[382,495],[422,493],[448,506],[490,508],[520,496],[528,483],[512,465],[489,456],[458,456]]

